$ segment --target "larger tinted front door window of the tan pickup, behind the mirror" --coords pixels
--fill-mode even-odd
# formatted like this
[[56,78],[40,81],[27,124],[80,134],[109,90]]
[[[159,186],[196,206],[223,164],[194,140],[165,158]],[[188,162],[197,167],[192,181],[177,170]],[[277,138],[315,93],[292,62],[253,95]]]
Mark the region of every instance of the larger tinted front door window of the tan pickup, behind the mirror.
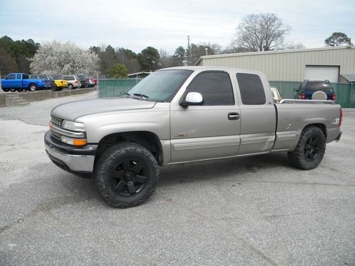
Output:
[[231,79],[226,72],[202,72],[187,87],[187,92],[200,92],[204,105],[234,104]]

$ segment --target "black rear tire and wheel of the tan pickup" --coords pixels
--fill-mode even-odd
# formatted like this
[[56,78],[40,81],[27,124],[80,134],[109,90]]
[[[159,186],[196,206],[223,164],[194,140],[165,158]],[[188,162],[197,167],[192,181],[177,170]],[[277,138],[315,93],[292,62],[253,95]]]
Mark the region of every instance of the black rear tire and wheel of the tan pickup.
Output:
[[302,170],[312,170],[322,162],[325,153],[325,135],[317,126],[303,129],[293,152],[288,153],[291,164]]

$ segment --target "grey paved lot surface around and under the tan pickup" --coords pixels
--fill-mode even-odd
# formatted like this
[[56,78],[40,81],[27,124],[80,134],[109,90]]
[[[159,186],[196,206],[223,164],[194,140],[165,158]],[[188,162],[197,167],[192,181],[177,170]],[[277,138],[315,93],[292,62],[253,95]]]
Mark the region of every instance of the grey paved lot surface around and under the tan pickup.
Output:
[[113,209],[43,145],[57,104],[0,108],[0,265],[355,265],[355,110],[320,167],[285,153],[160,169],[151,200]]

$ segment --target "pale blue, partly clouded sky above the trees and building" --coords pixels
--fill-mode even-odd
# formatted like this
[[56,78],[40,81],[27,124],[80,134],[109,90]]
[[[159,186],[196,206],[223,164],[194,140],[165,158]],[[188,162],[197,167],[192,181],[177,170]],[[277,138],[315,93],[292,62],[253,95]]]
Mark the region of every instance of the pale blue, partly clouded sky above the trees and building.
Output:
[[307,48],[323,47],[334,31],[355,43],[355,0],[1,0],[0,36],[71,40],[84,48],[110,44],[135,52],[150,45],[172,53],[187,45],[187,35],[192,43],[226,47],[250,13],[275,13],[291,27],[286,40]]

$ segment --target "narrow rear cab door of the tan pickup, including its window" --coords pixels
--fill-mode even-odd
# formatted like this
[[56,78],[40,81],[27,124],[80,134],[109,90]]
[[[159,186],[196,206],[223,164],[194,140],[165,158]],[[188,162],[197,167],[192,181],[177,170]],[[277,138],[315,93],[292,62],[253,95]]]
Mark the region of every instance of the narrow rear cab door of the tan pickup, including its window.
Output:
[[273,148],[276,111],[266,77],[259,73],[236,73],[241,108],[239,155],[266,153]]

